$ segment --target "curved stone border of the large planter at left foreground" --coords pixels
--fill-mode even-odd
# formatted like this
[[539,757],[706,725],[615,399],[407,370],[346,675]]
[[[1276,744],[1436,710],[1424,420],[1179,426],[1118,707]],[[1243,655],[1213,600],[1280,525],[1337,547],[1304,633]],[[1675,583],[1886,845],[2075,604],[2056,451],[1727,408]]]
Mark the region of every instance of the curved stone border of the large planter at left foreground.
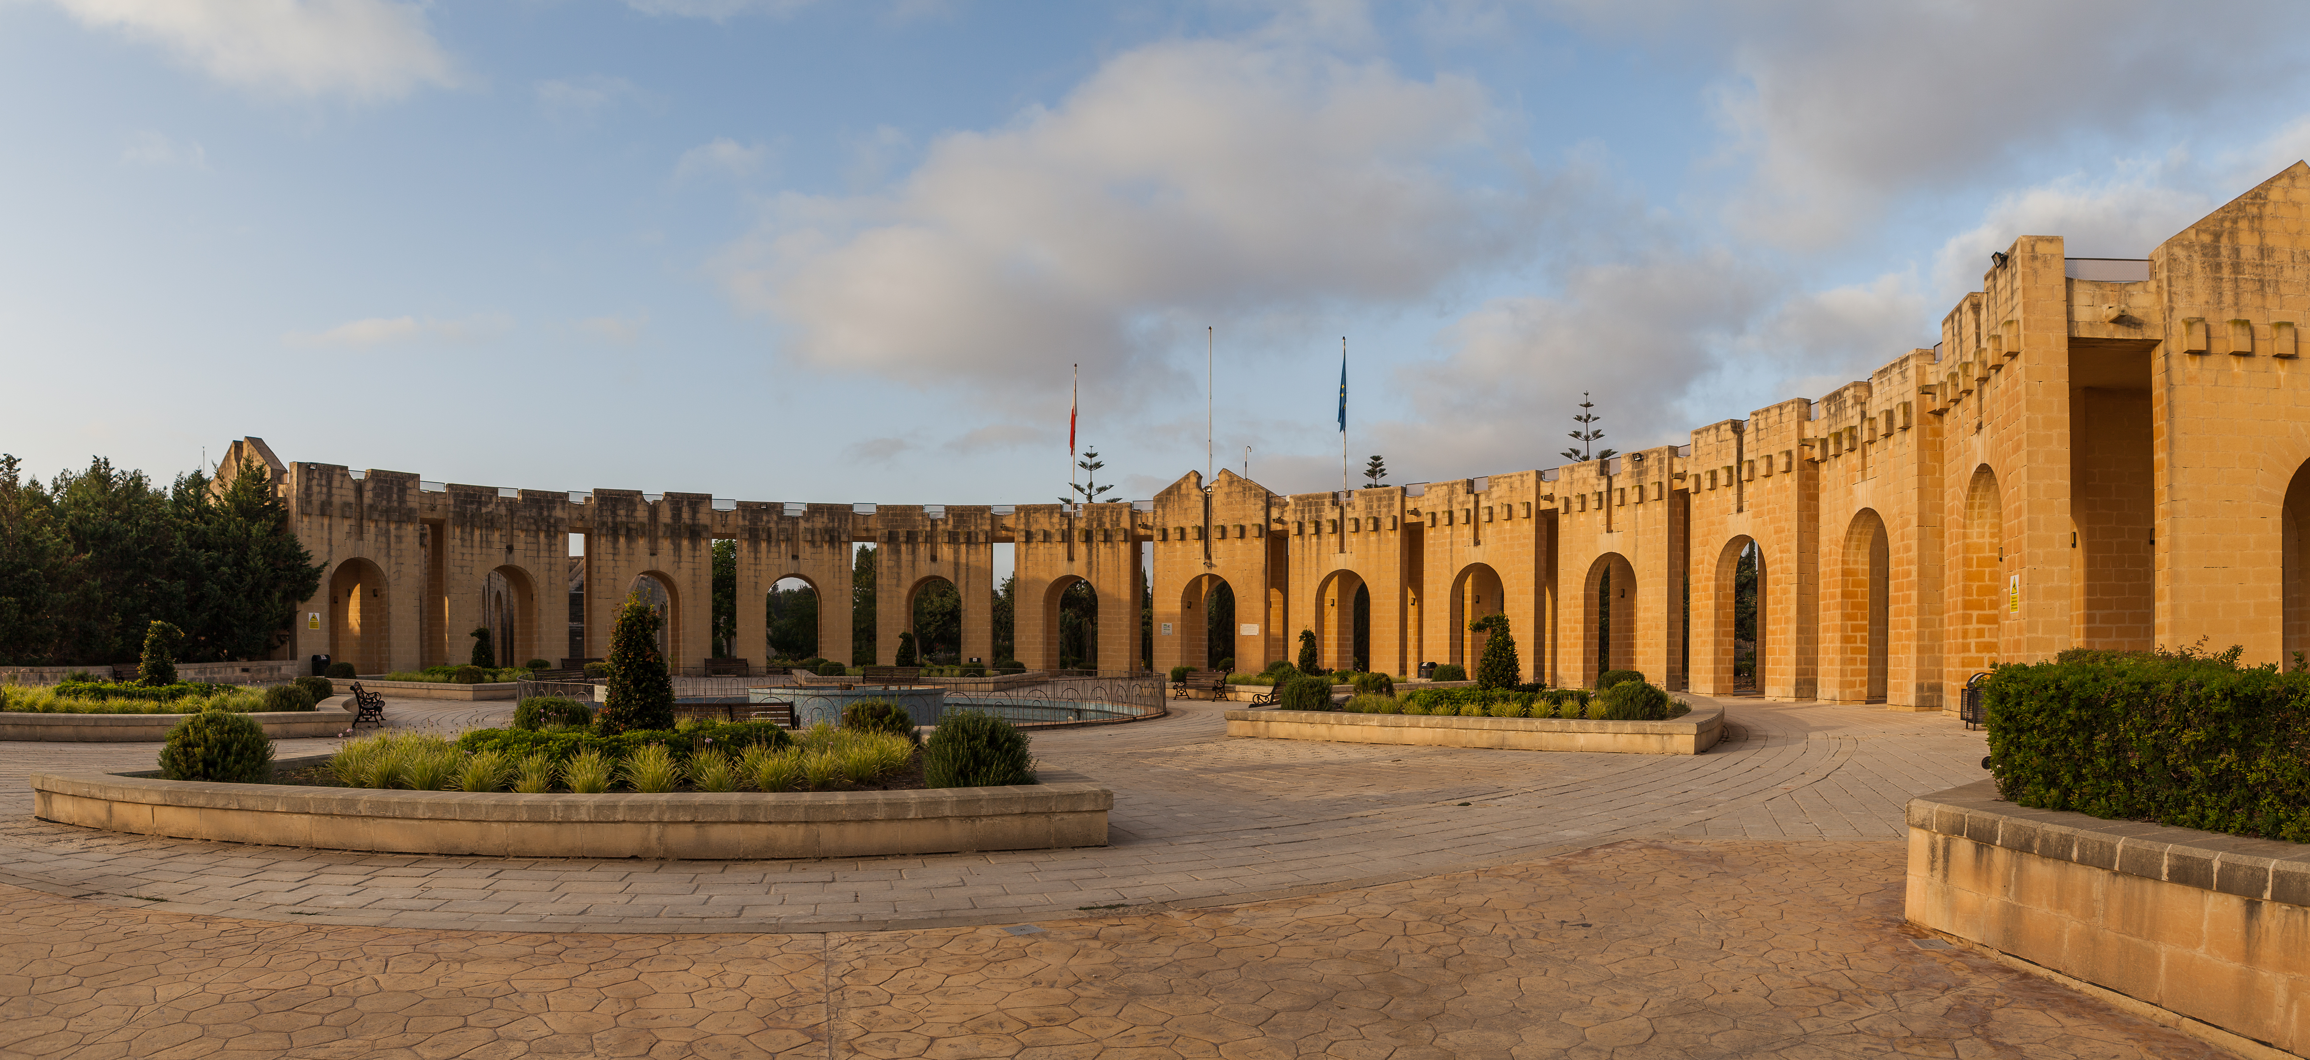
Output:
[[[275,767],[326,762],[328,755]],[[141,836],[478,857],[799,859],[1104,848],[1090,783],[924,792],[513,794],[32,774],[32,815]]]

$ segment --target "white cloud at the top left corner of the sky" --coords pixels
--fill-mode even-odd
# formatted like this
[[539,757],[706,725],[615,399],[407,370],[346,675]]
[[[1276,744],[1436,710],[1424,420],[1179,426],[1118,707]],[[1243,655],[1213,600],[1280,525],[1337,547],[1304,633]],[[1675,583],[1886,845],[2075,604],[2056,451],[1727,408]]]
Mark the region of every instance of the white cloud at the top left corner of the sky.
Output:
[[53,0],[81,25],[159,44],[229,85],[395,99],[448,85],[425,9],[390,0]]

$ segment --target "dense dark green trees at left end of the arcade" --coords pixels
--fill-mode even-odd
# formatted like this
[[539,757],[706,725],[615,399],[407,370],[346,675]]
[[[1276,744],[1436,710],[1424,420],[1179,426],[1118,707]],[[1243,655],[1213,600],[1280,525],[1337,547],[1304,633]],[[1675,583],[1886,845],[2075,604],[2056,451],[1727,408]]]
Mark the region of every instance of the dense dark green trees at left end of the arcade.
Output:
[[261,464],[159,490],[104,457],[42,485],[0,455],[0,663],[120,663],[152,621],[185,630],[178,660],[263,658],[319,587]]

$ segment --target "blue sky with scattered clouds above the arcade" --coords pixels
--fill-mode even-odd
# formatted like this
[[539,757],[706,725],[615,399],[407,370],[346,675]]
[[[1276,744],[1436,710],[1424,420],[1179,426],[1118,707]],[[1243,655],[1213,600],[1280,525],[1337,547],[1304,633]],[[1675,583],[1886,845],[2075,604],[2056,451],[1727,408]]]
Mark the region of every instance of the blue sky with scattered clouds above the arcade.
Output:
[[[1035,503],[1564,464],[2310,155],[2298,2],[0,0],[0,453]],[[1206,430],[1208,425],[1208,430]],[[1245,448],[1250,448],[1245,457]]]

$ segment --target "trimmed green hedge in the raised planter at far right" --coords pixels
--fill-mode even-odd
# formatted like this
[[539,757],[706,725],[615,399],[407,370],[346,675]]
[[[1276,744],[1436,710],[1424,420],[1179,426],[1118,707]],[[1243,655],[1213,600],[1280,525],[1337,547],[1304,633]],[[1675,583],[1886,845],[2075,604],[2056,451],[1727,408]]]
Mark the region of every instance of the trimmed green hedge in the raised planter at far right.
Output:
[[1989,769],[2042,811],[2310,843],[2310,674],[2238,651],[1991,670]]

